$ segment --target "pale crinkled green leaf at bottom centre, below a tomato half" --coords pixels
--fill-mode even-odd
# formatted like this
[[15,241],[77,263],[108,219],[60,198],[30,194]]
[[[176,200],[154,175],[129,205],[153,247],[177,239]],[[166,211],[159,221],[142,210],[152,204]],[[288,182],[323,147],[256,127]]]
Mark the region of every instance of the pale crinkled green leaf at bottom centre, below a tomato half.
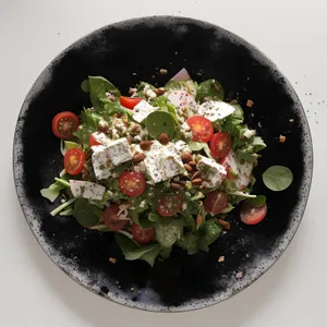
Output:
[[159,244],[169,247],[181,238],[183,220],[180,218],[165,218],[156,225],[156,237]]

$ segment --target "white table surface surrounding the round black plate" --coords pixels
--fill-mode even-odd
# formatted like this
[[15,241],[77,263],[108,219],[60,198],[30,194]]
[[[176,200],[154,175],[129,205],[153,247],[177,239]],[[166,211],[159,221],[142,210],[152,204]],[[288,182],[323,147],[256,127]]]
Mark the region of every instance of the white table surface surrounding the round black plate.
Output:
[[[324,0],[1,0],[0,325],[327,326],[324,304],[327,291],[326,12]],[[95,28],[152,14],[206,20],[262,49],[298,92],[314,142],[311,196],[302,225],[287,252],[265,276],[237,296],[184,314],[131,310],[104,300],[71,280],[34,240],[19,206],[12,178],[16,117],[41,70],[61,50]]]

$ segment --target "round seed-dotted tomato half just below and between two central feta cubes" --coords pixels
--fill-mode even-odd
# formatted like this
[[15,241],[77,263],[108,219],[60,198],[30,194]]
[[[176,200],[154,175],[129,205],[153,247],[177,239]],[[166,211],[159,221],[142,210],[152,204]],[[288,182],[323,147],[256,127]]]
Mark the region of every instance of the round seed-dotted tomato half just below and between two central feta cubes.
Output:
[[145,175],[133,171],[125,171],[119,178],[120,190],[131,197],[142,194],[146,187]]

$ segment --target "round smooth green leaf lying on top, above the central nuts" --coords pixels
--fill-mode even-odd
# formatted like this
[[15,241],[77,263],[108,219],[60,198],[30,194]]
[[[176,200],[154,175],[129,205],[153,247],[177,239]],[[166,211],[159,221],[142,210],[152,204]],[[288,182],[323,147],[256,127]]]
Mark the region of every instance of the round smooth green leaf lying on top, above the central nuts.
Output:
[[145,120],[145,126],[153,138],[166,133],[172,138],[175,130],[173,118],[165,111],[154,111]]

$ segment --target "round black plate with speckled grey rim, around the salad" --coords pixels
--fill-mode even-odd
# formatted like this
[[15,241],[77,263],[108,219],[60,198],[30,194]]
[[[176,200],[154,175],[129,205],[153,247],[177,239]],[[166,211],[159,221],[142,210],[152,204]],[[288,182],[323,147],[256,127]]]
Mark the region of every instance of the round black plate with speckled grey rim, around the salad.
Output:
[[[78,113],[88,105],[81,82],[104,75],[122,93],[138,81],[164,84],[185,66],[193,78],[215,77],[226,94],[254,101],[245,109],[251,128],[268,147],[255,169],[254,192],[268,199],[267,218],[249,227],[232,215],[232,229],[209,253],[187,256],[177,249],[150,268],[126,262],[110,233],[84,230],[72,217],[51,217],[39,190],[62,169],[59,141],[51,120],[62,110]],[[159,69],[169,74],[160,75]],[[294,122],[290,122],[294,119]],[[278,136],[287,136],[279,144]],[[278,69],[255,47],[215,25],[182,17],[145,17],[112,24],[83,37],[60,53],[28,93],[16,125],[14,181],[26,220],[40,246],[75,281],[107,299],[158,312],[201,308],[238,293],[262,276],[286,250],[305,209],[313,170],[313,150],[304,111],[295,92]],[[292,185],[270,192],[262,172],[288,166]],[[223,263],[218,263],[219,256]],[[117,257],[111,264],[108,258]],[[243,278],[238,279],[237,272]]]

